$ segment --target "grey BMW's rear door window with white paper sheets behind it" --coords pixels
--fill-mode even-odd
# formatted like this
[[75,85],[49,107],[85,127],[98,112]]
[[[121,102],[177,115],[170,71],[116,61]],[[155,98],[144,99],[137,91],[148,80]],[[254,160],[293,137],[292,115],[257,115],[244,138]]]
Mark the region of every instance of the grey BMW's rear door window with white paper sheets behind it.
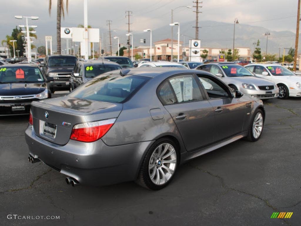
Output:
[[178,103],[203,100],[193,75],[178,75],[169,79]]

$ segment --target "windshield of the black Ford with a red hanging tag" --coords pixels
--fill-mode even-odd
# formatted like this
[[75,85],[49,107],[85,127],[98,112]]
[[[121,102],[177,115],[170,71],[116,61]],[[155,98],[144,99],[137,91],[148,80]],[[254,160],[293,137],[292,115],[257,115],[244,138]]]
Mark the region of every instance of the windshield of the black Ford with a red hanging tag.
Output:
[[[4,65],[3,65],[4,66]],[[36,83],[44,82],[38,67],[16,66],[0,67],[0,83]]]

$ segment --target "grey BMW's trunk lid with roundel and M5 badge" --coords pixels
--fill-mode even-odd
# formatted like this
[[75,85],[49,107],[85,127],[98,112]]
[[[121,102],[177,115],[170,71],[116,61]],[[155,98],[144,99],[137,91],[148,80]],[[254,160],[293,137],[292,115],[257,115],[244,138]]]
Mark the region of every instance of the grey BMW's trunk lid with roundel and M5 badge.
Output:
[[[65,145],[70,140],[71,131],[75,124],[117,118],[122,108],[123,104],[119,103],[64,96],[33,102],[31,111],[36,135],[52,143]],[[55,136],[51,137],[54,135],[53,133]]]

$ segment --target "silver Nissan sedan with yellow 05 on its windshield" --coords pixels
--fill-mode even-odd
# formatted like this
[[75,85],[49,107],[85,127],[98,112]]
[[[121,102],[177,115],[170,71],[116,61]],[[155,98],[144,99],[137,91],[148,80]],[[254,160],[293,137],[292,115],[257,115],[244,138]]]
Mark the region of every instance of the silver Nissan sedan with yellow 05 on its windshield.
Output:
[[[252,64],[253,65],[253,64]],[[258,99],[278,97],[278,87],[272,81],[254,76],[243,66],[234,63],[211,63],[197,67],[219,77],[232,90],[238,90]]]

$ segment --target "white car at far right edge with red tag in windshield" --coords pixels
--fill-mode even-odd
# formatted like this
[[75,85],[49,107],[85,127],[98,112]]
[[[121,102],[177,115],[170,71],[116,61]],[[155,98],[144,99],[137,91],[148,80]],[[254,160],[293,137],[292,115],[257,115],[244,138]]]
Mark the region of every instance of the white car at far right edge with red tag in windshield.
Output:
[[246,68],[256,76],[277,84],[280,99],[287,99],[289,96],[301,97],[301,76],[287,68],[278,64],[251,64]]

